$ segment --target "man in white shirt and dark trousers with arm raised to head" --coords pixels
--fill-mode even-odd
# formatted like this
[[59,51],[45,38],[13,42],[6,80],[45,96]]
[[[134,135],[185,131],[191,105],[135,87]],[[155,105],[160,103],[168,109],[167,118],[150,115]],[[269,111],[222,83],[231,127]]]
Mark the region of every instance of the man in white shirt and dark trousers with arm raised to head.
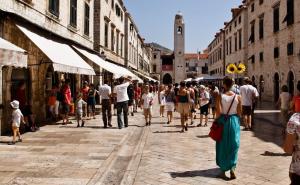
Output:
[[[125,82],[126,79],[126,82]],[[124,116],[124,126],[128,127],[128,94],[127,88],[129,86],[129,78],[121,77],[119,78],[120,85],[115,86],[114,95],[117,96],[117,118],[118,118],[118,127],[122,129],[123,122],[121,119],[121,114],[123,111]]]

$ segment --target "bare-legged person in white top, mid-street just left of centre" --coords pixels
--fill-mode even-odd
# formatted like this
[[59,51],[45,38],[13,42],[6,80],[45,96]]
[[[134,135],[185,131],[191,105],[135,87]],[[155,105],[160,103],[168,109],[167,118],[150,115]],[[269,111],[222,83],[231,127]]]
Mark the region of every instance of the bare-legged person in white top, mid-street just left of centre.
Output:
[[145,93],[142,96],[141,104],[143,105],[146,126],[151,125],[153,94],[149,92],[149,86],[145,86]]

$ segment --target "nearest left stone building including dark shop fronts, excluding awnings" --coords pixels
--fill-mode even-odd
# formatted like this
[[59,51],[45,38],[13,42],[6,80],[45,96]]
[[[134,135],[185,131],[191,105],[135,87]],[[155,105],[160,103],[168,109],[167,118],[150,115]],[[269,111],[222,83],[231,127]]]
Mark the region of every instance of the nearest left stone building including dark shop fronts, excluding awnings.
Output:
[[[49,58],[20,30],[17,25],[30,28],[45,38],[93,48],[93,0],[71,1],[49,0],[1,0],[0,37],[23,48],[28,53],[28,68],[1,68],[2,79],[1,133],[8,131],[10,117],[9,102],[14,98],[20,81],[26,82],[27,103],[32,104],[36,121],[43,121],[47,112],[47,96],[54,83],[70,78],[72,92],[80,86],[81,80],[90,76],[54,72]],[[67,10],[67,11],[66,11]],[[57,51],[59,52],[59,51]],[[67,60],[67,58],[66,58]]]

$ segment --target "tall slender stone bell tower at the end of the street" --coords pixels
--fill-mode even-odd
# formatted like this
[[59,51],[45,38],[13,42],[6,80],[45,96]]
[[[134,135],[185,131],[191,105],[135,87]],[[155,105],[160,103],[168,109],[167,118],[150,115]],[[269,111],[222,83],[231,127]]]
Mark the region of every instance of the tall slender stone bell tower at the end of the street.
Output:
[[185,25],[182,13],[177,13],[174,23],[174,81],[179,83],[186,79],[185,52]]

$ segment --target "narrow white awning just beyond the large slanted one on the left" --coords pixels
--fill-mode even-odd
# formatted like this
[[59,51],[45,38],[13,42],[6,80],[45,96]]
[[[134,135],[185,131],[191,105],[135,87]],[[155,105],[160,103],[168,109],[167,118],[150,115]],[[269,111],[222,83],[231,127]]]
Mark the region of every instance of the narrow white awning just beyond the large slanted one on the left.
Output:
[[82,55],[87,57],[89,60],[97,64],[99,67],[105,69],[106,71],[109,71],[114,74],[115,78],[119,78],[121,76],[131,76],[133,80],[138,80],[139,82],[143,82],[139,77],[137,77],[135,74],[133,74],[131,71],[128,69],[118,66],[116,64],[107,62],[103,60],[101,57],[99,57],[96,54],[90,53],[86,50],[79,49],[76,46],[73,46],[78,52],[80,52]]

